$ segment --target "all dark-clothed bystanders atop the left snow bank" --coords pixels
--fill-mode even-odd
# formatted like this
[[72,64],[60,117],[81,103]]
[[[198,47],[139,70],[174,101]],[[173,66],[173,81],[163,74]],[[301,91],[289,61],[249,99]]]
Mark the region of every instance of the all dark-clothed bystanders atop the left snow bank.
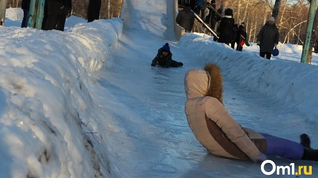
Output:
[[[23,20],[21,28],[28,26],[31,0],[22,0]],[[89,0],[87,22],[100,19],[101,0]],[[66,17],[71,15],[72,0],[45,0],[42,30],[64,31]]]

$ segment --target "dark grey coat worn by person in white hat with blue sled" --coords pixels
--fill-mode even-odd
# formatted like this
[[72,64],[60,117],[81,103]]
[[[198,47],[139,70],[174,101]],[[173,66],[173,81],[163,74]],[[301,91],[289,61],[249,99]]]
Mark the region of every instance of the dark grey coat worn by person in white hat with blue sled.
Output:
[[259,30],[257,41],[260,41],[259,52],[272,53],[274,43],[278,44],[279,41],[279,32],[275,23],[270,25],[269,22],[266,22],[262,29]]

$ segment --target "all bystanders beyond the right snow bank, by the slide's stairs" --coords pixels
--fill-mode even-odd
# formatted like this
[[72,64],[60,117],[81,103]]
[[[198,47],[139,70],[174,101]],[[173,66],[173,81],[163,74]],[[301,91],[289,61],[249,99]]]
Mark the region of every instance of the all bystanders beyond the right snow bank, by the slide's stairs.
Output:
[[[213,9],[216,9],[215,0],[210,0]],[[226,8],[224,11],[218,9],[215,12],[208,4],[203,0],[179,0],[179,5],[184,6],[177,17],[176,22],[185,29],[185,32],[191,32],[194,26],[195,15],[200,15],[201,19],[213,29],[218,38],[214,36],[214,41],[225,43],[231,48],[242,51],[245,42],[248,41],[246,33],[245,22],[236,24],[233,18],[233,10]],[[205,16],[206,9],[209,10],[207,16]],[[219,14],[221,16],[219,16]],[[259,46],[259,56],[266,59],[271,59],[273,48],[276,47],[279,41],[279,31],[275,24],[274,17],[270,17],[265,25],[261,28],[257,35],[257,45]],[[248,42],[247,42],[248,43]]]

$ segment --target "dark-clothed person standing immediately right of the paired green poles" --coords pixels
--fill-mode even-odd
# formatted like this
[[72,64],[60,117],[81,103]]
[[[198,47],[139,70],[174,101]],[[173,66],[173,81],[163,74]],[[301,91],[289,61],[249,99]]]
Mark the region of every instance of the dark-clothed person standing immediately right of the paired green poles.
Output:
[[62,7],[62,0],[45,0],[42,30],[56,29]]

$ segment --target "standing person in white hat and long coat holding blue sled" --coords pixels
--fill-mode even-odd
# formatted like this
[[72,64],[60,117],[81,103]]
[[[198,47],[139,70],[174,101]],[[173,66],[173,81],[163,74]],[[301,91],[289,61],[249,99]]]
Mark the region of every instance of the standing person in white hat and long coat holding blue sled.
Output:
[[275,25],[274,17],[269,17],[268,21],[259,30],[257,35],[257,45],[259,45],[259,56],[266,59],[271,59],[273,49],[278,44],[279,41],[279,31]]

